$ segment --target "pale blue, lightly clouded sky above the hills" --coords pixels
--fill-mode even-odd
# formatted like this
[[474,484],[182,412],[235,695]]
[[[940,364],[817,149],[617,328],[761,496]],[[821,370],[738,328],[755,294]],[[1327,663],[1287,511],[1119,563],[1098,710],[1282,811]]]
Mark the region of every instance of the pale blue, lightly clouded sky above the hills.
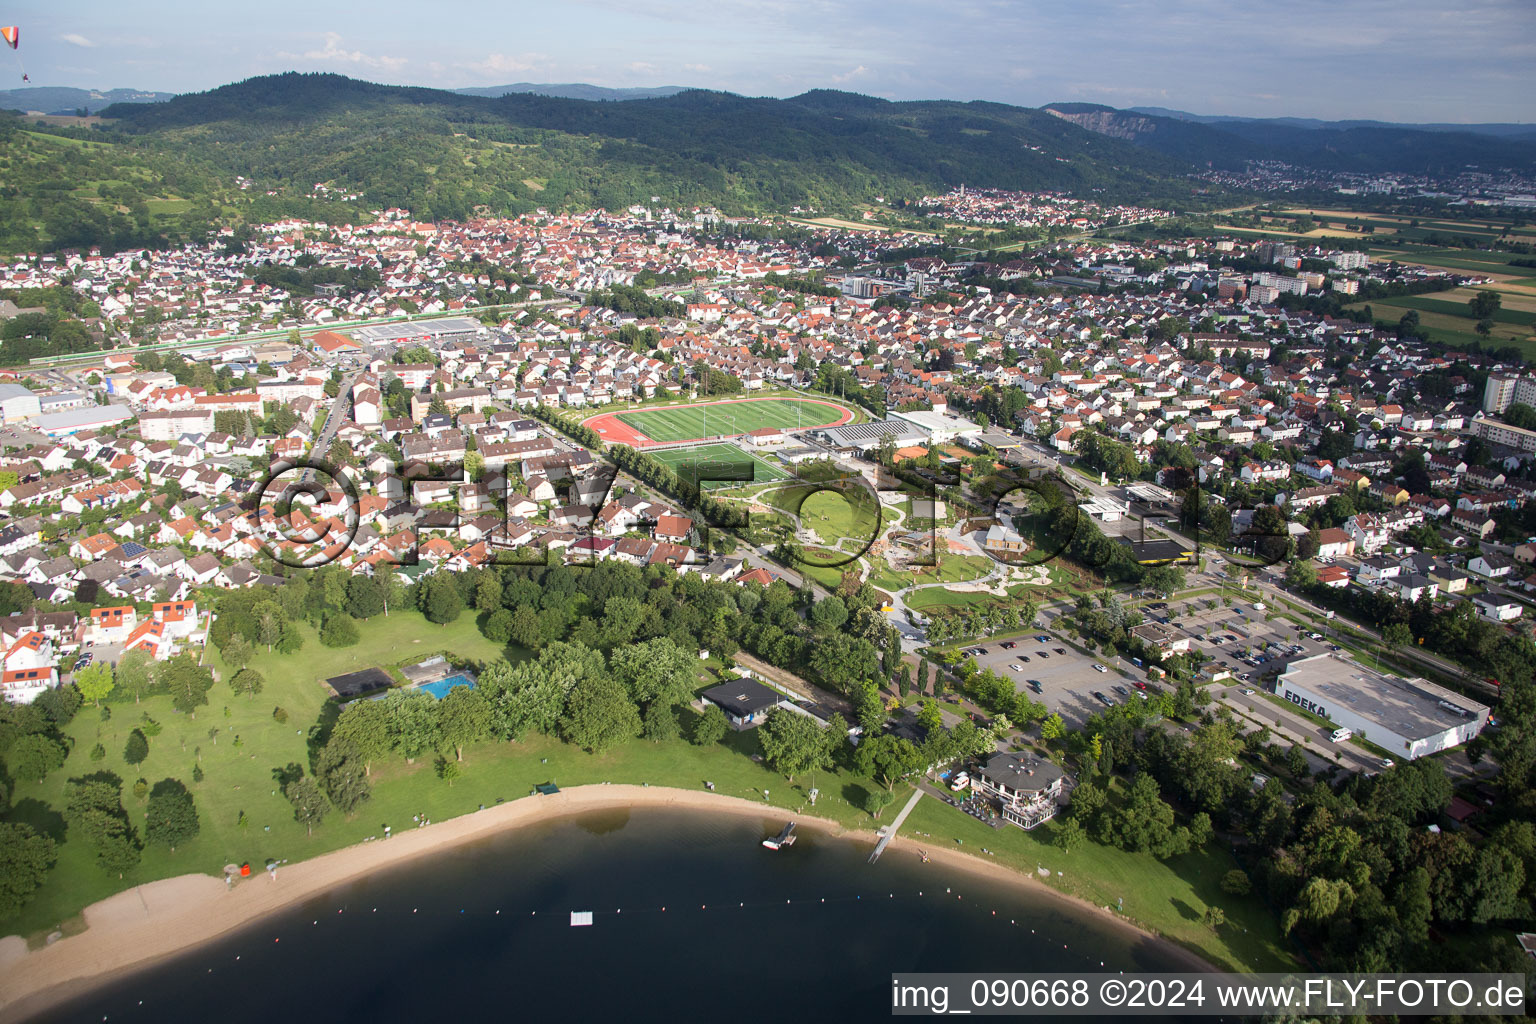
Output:
[[[1536,121],[1536,0],[0,0],[0,25],[22,28],[32,86],[195,92],[332,71]],[[15,57],[0,54],[0,88],[22,88]]]

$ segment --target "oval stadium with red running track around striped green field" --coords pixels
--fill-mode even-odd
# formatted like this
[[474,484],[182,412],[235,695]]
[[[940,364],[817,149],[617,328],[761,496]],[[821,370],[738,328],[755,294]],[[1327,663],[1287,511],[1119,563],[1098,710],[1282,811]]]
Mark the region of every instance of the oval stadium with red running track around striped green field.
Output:
[[834,402],[808,398],[737,398],[696,405],[604,413],[585,421],[604,441],[647,447],[676,441],[730,438],[762,427],[836,427],[854,418]]

